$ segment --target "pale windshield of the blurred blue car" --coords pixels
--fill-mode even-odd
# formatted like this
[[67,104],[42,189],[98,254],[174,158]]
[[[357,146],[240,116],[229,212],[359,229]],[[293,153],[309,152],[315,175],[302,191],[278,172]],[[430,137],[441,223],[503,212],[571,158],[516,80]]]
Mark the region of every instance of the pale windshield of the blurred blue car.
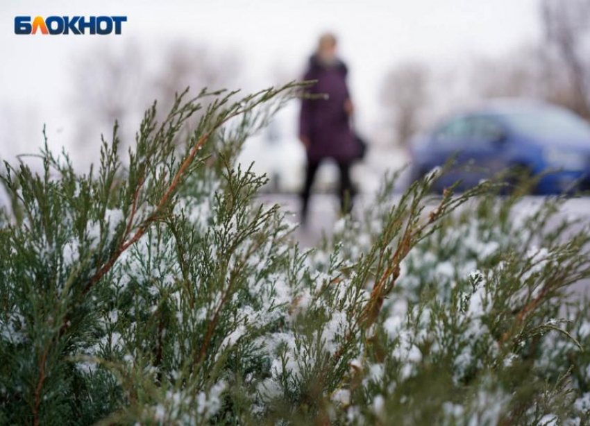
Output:
[[506,116],[517,131],[542,139],[590,139],[590,124],[562,110],[516,112]]

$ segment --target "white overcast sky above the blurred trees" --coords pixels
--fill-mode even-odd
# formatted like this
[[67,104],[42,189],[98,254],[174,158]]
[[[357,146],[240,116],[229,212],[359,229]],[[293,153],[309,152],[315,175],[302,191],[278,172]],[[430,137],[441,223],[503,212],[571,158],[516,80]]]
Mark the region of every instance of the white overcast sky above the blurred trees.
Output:
[[[78,56],[133,40],[158,55],[180,37],[237,51],[253,90],[301,73],[317,35],[339,35],[361,126],[378,121],[385,72],[405,60],[453,64],[498,56],[540,37],[539,0],[1,0],[0,158],[31,152],[47,123],[55,146],[71,142],[65,99]],[[127,15],[123,35],[15,35],[15,15]],[[92,70],[87,70],[92,73]],[[59,131],[58,131],[59,130]],[[98,139],[95,138],[97,141]],[[98,144],[97,144],[98,145]]]

